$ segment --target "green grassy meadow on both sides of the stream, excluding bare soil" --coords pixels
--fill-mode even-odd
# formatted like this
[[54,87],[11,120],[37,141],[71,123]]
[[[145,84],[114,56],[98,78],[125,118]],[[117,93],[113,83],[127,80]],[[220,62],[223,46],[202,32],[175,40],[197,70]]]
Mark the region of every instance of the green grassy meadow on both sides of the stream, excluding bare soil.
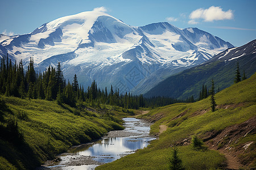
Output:
[[[196,150],[191,138],[205,139],[208,133],[223,131],[255,117],[256,75],[218,92],[217,110],[210,109],[209,97],[196,103],[176,103],[152,109],[139,116],[154,121],[151,134],[159,136],[144,149],[97,169],[167,169],[174,145],[185,169],[224,169],[226,158],[217,150]],[[80,102],[76,107],[56,101],[0,99],[0,169],[33,169],[73,145],[98,139],[110,130],[122,130],[122,117],[138,111]],[[142,110],[146,111],[145,108]],[[159,134],[160,125],[167,130]],[[238,155],[247,167],[255,167],[255,133],[239,138],[230,147],[240,148],[253,142],[247,152]],[[179,145],[182,141],[186,145]],[[221,145],[220,145],[221,147]]]

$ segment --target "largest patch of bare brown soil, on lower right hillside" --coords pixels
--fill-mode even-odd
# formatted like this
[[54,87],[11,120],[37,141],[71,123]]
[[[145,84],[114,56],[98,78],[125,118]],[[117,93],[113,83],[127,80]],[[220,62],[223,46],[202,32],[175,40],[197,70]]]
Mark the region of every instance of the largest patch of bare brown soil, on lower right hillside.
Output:
[[[222,131],[212,131],[205,134],[204,142],[209,146],[210,149],[218,150],[226,156],[227,168],[239,169],[250,165],[252,160],[245,161],[251,158],[243,158],[248,152],[255,152],[256,149],[250,145],[255,145],[255,141],[249,141],[236,145],[240,138],[246,137],[248,134],[255,134],[256,116],[243,122],[239,125],[229,126]],[[255,159],[255,158],[254,158]]]

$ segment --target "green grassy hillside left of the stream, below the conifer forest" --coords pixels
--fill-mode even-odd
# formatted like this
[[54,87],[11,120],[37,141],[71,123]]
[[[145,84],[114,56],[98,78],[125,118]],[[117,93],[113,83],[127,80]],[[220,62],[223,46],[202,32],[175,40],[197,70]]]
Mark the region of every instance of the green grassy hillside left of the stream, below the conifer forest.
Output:
[[128,114],[117,107],[96,110],[80,104],[72,108],[53,101],[1,96],[0,169],[33,169],[72,145],[123,129],[117,115]]

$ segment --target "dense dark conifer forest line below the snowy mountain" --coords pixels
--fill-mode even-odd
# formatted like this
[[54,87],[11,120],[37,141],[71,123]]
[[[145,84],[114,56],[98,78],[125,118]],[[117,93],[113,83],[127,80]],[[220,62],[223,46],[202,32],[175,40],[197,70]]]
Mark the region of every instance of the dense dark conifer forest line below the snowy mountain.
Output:
[[6,96],[21,97],[23,99],[44,99],[57,101],[57,103],[75,106],[77,102],[86,101],[93,106],[101,104],[116,105],[126,109],[138,109],[139,107],[162,107],[168,104],[180,102],[194,102],[193,96],[186,100],[177,100],[171,97],[150,97],[133,95],[130,92],[119,94],[118,89],[110,91],[105,87],[98,88],[95,80],[91,86],[84,89],[79,85],[75,74],[72,82],[66,82],[61,70],[60,62],[57,67],[51,65],[43,73],[36,73],[34,59],[31,57],[27,70],[24,71],[22,60],[17,64],[9,60],[8,55],[1,59],[0,68],[0,94]]

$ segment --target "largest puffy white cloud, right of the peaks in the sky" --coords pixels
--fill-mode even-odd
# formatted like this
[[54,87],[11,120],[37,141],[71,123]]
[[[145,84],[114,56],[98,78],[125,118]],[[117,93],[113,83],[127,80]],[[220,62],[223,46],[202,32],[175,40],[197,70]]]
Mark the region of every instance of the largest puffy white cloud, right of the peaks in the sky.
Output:
[[191,20],[203,19],[204,22],[213,22],[214,20],[233,19],[234,14],[232,10],[222,11],[221,7],[211,6],[207,9],[199,8],[192,11],[189,15]]

